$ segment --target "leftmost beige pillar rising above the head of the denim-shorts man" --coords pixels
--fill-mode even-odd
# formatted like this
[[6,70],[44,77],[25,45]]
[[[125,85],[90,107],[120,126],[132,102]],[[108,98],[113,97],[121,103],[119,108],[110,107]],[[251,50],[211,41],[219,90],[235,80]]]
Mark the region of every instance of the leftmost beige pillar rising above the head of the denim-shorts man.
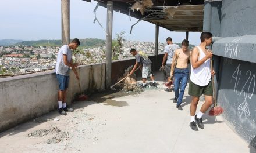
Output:
[[62,45],[69,44],[70,40],[70,0],[61,0],[61,34]]

